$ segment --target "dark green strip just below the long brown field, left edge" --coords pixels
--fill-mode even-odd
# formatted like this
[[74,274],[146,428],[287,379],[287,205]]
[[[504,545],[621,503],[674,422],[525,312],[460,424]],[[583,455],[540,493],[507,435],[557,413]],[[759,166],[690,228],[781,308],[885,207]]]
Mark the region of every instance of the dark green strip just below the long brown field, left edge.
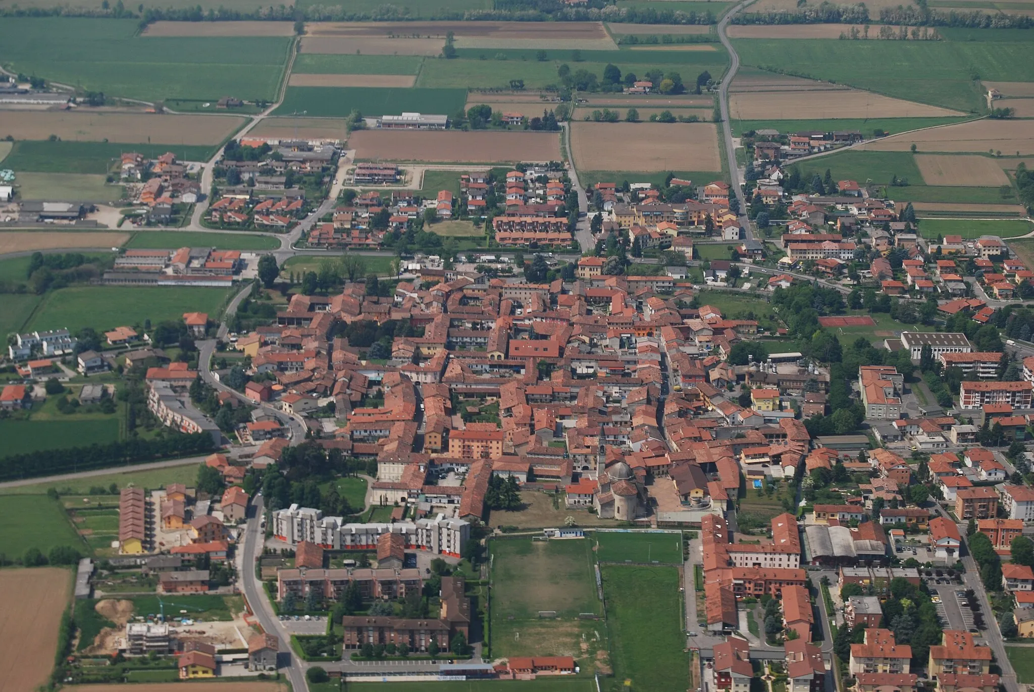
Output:
[[22,174],[26,171],[107,175],[112,167],[119,163],[122,153],[126,151],[135,151],[149,158],[157,158],[166,151],[172,151],[182,160],[207,161],[215,150],[216,147],[173,144],[23,141],[14,143],[13,150],[3,164],[4,168],[13,169],[18,174],[16,182],[20,183]]

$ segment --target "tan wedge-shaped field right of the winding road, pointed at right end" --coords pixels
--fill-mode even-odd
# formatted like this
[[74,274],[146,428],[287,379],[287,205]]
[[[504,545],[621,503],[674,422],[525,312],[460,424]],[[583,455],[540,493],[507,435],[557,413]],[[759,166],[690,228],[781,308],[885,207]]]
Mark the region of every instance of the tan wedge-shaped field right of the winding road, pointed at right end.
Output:
[[739,92],[730,96],[729,113],[740,120],[809,118],[920,118],[963,115],[956,111],[850,89],[835,96],[821,91]]

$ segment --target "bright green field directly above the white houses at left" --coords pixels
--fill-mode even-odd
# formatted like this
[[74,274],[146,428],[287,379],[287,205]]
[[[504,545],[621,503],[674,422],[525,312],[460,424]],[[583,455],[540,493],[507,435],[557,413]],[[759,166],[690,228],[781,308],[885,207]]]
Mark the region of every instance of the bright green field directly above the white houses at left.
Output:
[[150,320],[182,320],[184,312],[208,312],[217,319],[230,291],[193,287],[70,287],[52,291],[26,328],[97,331]]

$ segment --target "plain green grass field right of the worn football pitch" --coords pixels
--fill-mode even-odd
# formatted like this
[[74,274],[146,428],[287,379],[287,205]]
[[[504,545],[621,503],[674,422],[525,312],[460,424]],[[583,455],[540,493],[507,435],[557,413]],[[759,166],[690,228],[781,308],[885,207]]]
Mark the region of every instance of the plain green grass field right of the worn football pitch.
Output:
[[[678,570],[673,567],[604,567],[610,658],[614,676],[601,681],[609,690],[681,692],[689,685],[689,654],[683,653],[685,608]],[[649,598],[643,598],[649,594]]]

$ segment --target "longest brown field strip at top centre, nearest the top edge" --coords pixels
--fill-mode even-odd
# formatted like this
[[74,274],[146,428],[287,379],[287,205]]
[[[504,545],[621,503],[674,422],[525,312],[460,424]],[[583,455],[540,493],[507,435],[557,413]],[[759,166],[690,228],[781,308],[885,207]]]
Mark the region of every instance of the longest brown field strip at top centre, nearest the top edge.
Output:
[[434,36],[445,38],[607,38],[602,22],[315,22],[307,36]]

